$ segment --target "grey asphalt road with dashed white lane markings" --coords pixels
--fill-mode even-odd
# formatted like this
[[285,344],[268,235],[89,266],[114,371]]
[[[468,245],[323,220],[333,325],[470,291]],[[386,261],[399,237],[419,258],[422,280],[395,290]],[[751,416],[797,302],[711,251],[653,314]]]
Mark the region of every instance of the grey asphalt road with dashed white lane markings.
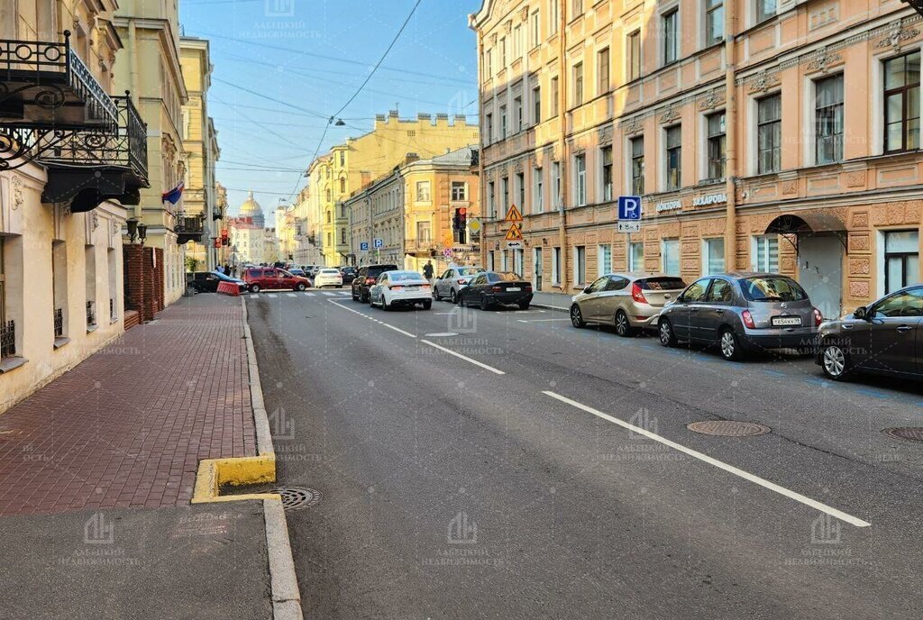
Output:
[[327,293],[247,299],[306,617],[923,616],[923,389]]

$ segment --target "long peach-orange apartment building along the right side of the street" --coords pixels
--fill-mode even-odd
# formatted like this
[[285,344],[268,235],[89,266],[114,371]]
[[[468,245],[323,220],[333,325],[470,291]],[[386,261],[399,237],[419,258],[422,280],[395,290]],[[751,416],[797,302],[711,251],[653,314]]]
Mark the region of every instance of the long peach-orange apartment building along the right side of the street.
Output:
[[[485,0],[469,25],[487,264],[515,204],[543,291],[760,269],[838,316],[919,279],[923,29],[907,5]],[[616,232],[621,195],[641,196],[641,232]]]

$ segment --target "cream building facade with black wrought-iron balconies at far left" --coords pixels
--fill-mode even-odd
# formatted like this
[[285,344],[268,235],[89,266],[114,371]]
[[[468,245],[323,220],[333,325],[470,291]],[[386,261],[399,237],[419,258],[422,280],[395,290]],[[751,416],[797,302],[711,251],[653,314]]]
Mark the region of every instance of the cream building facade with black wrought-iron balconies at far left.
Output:
[[124,331],[122,204],[147,155],[116,8],[0,3],[0,412]]

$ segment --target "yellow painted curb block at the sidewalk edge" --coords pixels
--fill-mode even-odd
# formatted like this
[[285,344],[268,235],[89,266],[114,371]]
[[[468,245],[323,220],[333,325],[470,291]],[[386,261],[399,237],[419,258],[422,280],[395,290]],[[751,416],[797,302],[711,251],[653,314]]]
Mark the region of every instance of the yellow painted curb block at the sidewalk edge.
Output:
[[198,463],[196,488],[191,503],[277,498],[279,495],[274,494],[220,495],[221,488],[225,484],[242,486],[244,484],[274,483],[275,481],[276,455],[274,452],[258,457],[204,459]]

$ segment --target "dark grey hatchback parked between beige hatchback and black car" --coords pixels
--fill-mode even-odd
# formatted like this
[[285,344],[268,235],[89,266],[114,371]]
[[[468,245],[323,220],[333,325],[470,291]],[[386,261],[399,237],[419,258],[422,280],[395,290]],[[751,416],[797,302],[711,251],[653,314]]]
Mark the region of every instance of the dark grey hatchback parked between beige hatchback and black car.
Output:
[[791,278],[775,273],[730,273],[694,281],[658,319],[660,343],[717,344],[726,360],[748,352],[814,352],[821,311]]

